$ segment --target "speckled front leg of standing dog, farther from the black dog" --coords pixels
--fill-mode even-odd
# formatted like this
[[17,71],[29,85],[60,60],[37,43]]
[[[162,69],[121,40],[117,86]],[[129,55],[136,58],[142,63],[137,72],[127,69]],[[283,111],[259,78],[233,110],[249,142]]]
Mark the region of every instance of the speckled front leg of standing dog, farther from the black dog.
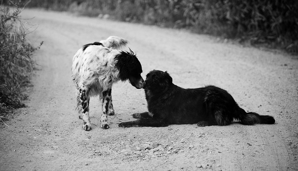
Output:
[[81,107],[82,107],[82,115],[80,118],[83,120],[83,129],[85,131],[90,131],[91,130],[91,123],[90,123],[90,118],[89,118],[89,96],[86,93],[86,87],[81,86],[79,89],[79,97],[80,97],[80,102],[81,102]]

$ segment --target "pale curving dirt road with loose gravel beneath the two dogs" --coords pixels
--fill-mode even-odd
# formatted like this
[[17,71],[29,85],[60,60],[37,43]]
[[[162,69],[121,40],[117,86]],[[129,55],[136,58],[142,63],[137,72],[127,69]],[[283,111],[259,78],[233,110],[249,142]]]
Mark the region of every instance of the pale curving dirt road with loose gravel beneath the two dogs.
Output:
[[[295,171],[298,170],[298,58],[223,43],[187,31],[27,9],[44,45],[27,108],[0,127],[1,171]],[[248,111],[272,115],[274,125],[119,128],[147,110],[143,89],[113,86],[115,116],[100,128],[100,102],[91,98],[92,130],[74,111],[72,58],[86,43],[124,37],[146,74],[168,71],[185,88],[217,85]],[[148,150],[148,149],[153,150]],[[147,150],[145,150],[147,149]]]

